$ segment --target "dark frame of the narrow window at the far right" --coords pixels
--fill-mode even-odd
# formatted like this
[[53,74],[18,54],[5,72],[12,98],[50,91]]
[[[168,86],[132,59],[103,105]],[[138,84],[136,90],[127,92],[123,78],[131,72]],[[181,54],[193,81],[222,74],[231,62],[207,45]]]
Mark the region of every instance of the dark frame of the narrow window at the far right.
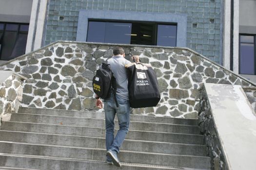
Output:
[[256,34],[239,34],[239,74],[241,73],[241,36],[253,36],[254,37],[254,43],[246,43],[246,44],[254,44],[254,74],[244,74],[244,75],[256,75]]

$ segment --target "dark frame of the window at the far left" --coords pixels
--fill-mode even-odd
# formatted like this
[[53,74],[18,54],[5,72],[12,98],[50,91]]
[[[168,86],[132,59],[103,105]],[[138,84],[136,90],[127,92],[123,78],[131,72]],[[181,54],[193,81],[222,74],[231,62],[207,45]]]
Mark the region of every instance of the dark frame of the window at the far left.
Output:
[[[0,37],[0,45],[1,45],[1,48],[0,48],[0,60],[2,60],[2,61],[9,61],[9,60],[11,60],[11,59],[13,59],[13,58],[10,58],[9,60],[6,60],[6,59],[2,59],[2,49],[3,49],[3,37],[4,37],[4,34],[5,34],[5,31],[6,31],[6,25],[7,24],[16,24],[16,25],[18,25],[18,31],[9,31],[9,32],[15,32],[15,33],[17,33],[17,36],[16,36],[16,39],[15,39],[15,44],[16,44],[16,42],[17,42],[17,40],[18,40],[18,38],[19,38],[19,34],[26,34],[27,33],[27,35],[28,35],[28,31],[27,32],[25,32],[25,31],[20,31],[20,26],[21,25],[28,25],[29,26],[29,23],[21,23],[21,22],[0,22],[0,24],[4,24],[4,26],[3,26],[3,34],[2,34],[2,39],[1,39],[1,37]],[[15,44],[14,44],[14,47],[15,47]],[[13,49],[14,50],[14,49]],[[17,56],[18,57],[18,56]],[[16,57],[15,57],[16,58]]]

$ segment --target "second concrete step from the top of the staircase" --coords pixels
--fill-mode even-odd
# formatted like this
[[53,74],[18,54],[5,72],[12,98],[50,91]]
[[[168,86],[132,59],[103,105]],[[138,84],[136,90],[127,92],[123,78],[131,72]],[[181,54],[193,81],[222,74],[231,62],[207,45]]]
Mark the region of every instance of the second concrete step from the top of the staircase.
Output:
[[[76,126],[99,127],[99,128],[105,127],[104,119],[50,116],[50,115],[25,114],[25,113],[13,113],[12,117],[11,117],[11,121],[61,124],[61,125],[76,125]],[[115,124],[116,124],[116,126],[118,126],[117,120],[116,120]],[[154,123],[154,122],[139,122],[139,121],[131,121],[130,122],[130,130],[143,130],[143,131],[166,132],[166,133],[183,133],[183,134],[199,134],[198,126]]]

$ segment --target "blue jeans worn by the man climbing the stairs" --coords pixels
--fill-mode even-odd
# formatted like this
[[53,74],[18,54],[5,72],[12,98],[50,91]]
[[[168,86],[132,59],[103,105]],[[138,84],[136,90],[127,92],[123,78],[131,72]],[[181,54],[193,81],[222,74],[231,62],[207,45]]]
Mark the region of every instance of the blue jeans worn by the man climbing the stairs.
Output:
[[[118,107],[114,100],[114,95],[104,100],[105,125],[106,125],[106,149],[119,153],[130,125],[130,104],[117,95]],[[115,115],[118,117],[119,130],[114,137]]]

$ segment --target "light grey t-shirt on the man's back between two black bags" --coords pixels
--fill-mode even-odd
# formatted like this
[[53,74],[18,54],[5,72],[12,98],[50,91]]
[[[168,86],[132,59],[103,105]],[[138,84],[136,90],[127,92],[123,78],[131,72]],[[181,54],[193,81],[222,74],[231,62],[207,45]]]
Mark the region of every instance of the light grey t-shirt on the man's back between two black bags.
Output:
[[126,60],[121,55],[113,56],[112,58],[108,59],[107,62],[110,64],[117,81],[117,95],[129,100],[128,74],[125,65],[130,64],[131,62]]

